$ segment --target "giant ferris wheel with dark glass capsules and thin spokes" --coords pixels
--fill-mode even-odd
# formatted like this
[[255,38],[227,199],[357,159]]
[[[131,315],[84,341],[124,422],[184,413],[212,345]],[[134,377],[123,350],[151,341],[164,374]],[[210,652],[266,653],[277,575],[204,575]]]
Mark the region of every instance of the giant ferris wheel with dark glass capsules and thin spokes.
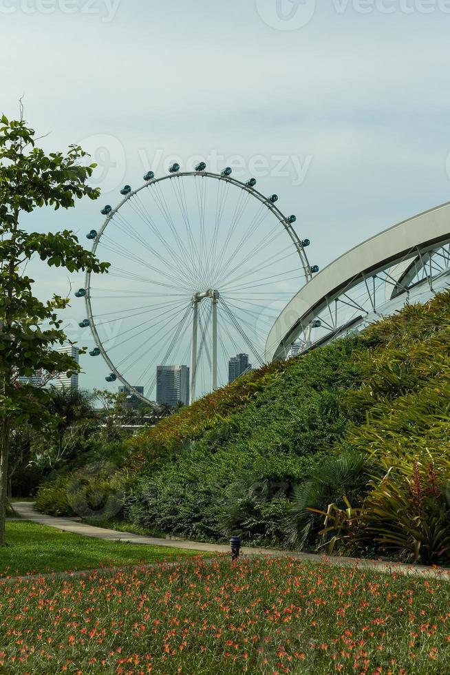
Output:
[[[306,256],[308,239],[294,229],[278,196],[257,181],[232,177],[204,162],[182,172],[173,164],[138,189],[125,185],[103,225],[87,233],[92,252],[111,263],[107,275],[87,273],[85,298],[95,346],[107,382],[119,380],[155,405],[158,368],[189,368],[189,402],[231,379],[231,357],[264,363],[270,327],[292,288],[319,271]],[[250,364],[251,361],[251,364]]]

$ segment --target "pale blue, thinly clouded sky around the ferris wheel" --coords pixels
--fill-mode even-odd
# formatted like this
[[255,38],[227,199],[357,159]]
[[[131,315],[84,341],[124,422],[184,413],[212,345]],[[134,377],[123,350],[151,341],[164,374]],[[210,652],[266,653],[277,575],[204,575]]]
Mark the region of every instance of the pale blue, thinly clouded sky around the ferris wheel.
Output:
[[[324,267],[449,200],[449,28],[449,0],[0,0],[1,111],[25,94],[43,147],[81,143],[103,191],[25,226],[87,244],[122,185],[204,158],[278,194]],[[84,283],[30,269],[43,298]],[[74,300],[65,325],[92,348],[84,316]],[[106,385],[101,358],[82,366]]]

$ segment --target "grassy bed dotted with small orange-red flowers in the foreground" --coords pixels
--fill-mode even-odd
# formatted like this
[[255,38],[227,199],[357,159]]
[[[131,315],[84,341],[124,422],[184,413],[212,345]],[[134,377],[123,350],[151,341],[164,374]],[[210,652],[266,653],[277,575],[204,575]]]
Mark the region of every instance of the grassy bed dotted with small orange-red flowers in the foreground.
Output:
[[450,583],[224,557],[0,587],[0,672],[449,672]]

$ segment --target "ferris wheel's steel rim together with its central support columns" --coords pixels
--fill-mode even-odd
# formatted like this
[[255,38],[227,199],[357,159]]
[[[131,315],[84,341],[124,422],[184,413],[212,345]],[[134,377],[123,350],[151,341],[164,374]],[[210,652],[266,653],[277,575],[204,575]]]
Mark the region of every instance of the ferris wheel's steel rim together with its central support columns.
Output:
[[[272,213],[275,218],[279,221],[279,224],[283,227],[283,229],[288,233],[288,236],[290,237],[290,240],[292,241],[292,244],[294,246],[295,251],[297,251],[297,256],[300,261],[300,266],[299,269],[302,271],[304,278],[306,280],[310,280],[312,278],[312,274],[314,273],[314,267],[311,267],[309,262],[308,262],[308,257],[306,255],[305,251],[305,246],[309,244],[308,240],[301,240],[299,236],[297,236],[296,231],[294,230],[294,227],[292,223],[294,222],[295,218],[291,216],[290,218],[287,218],[275,205],[275,203],[271,200],[271,198],[268,198],[267,196],[264,196],[261,194],[257,189],[255,189],[254,184],[256,181],[253,183],[248,182],[248,183],[242,183],[239,180],[236,180],[233,178],[231,175],[224,173],[222,174],[214,174],[211,172],[207,171],[198,171],[196,170],[195,172],[180,172],[179,170],[172,170],[172,167],[170,169],[171,173],[169,173],[167,176],[162,176],[160,178],[154,178],[153,174],[151,174],[151,177],[149,180],[146,180],[144,185],[140,186],[136,190],[132,190],[129,188],[126,192],[122,191],[122,194],[124,194],[122,200],[118,205],[114,208],[109,207],[109,212],[106,214],[106,218],[103,222],[103,225],[100,227],[99,231],[92,231],[91,235],[88,235],[88,238],[92,238],[93,244],[92,244],[92,253],[96,254],[98,245],[100,241],[102,240],[103,236],[105,235],[105,232],[107,231],[108,226],[111,223],[111,220],[119,214],[120,209],[129,202],[129,200],[133,200],[133,198],[138,195],[142,190],[147,190],[147,189],[152,189],[156,185],[164,182],[164,181],[171,181],[171,180],[180,180],[180,178],[186,177],[186,176],[196,176],[197,178],[200,176],[202,180],[218,180],[218,181],[224,181],[224,183],[228,183],[230,185],[234,185],[235,187],[238,187],[242,191],[246,191],[250,196],[255,198],[255,200],[258,200],[261,205],[264,205],[269,211]],[[231,172],[231,170],[230,170]],[[144,177],[145,178],[145,177]],[[128,187],[128,186],[127,186]],[[293,220],[292,220],[293,218]],[[141,399],[142,401],[146,402],[147,404],[155,405],[151,399],[148,397],[142,395],[139,391],[137,391],[131,382],[127,380],[125,375],[120,371],[120,368],[116,366],[111,359],[111,357],[108,354],[107,349],[105,349],[105,346],[103,345],[102,340],[100,339],[100,335],[98,333],[98,329],[96,327],[96,318],[94,316],[94,312],[92,309],[92,293],[91,293],[91,284],[92,284],[92,275],[88,271],[85,276],[85,304],[86,304],[86,311],[87,311],[87,320],[85,325],[90,326],[90,330],[92,331],[92,335],[94,337],[94,342],[96,344],[96,353],[99,353],[103,356],[103,359],[107,363],[107,366],[109,366],[109,369],[111,371],[111,377],[114,377],[114,379],[119,380],[122,382],[124,386],[126,386],[129,391]],[[83,289],[81,289],[83,291]],[[211,300],[211,313],[212,313],[212,320],[211,320],[211,389],[217,388],[217,304],[221,300],[219,290],[217,289],[206,289],[206,290],[201,290],[197,293],[195,293],[191,299],[191,308],[192,308],[192,344],[191,344],[191,390],[190,390],[190,399],[191,402],[195,399],[195,394],[196,394],[196,384],[197,384],[197,342],[198,342],[198,329],[199,329],[199,308],[200,308],[200,303],[202,300]],[[229,308],[226,308],[227,311],[229,311]]]

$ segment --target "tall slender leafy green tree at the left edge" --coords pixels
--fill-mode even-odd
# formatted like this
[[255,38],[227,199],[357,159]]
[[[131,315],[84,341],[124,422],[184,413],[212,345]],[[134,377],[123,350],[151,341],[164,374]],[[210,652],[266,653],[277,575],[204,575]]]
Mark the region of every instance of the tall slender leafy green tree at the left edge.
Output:
[[48,393],[20,387],[18,378],[39,369],[67,375],[79,371],[72,357],[54,349],[67,342],[58,311],[69,299],[36,298],[26,264],[39,257],[49,267],[69,272],[101,273],[109,267],[86,251],[72,231],[45,234],[21,229],[21,217],[34,209],[69,209],[84,196],[99,196],[98,189],[87,185],[95,165],[82,164],[87,155],[81,147],[70,145],[65,154],[45,154],[34,137],[34,129],[22,116],[19,121],[0,118],[0,546],[6,543],[11,430],[24,422],[39,428],[48,415]]

